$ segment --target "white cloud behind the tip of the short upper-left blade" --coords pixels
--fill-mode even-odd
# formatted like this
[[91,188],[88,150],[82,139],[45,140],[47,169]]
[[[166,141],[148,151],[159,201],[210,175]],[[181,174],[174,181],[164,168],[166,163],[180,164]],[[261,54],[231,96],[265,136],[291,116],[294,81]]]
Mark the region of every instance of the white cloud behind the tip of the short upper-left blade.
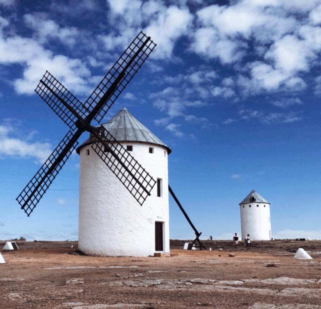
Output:
[[0,64],[18,64],[22,67],[22,78],[13,81],[19,94],[33,94],[39,79],[48,70],[64,85],[78,94],[88,94],[90,70],[79,59],[64,55],[54,55],[33,38],[1,35],[0,32]]

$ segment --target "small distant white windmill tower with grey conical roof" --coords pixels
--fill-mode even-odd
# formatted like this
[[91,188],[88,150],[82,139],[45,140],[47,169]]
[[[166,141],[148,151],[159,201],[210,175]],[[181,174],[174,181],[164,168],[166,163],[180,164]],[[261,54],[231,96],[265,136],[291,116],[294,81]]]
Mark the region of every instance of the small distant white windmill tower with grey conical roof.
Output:
[[270,203],[253,190],[239,205],[242,239],[271,240]]

